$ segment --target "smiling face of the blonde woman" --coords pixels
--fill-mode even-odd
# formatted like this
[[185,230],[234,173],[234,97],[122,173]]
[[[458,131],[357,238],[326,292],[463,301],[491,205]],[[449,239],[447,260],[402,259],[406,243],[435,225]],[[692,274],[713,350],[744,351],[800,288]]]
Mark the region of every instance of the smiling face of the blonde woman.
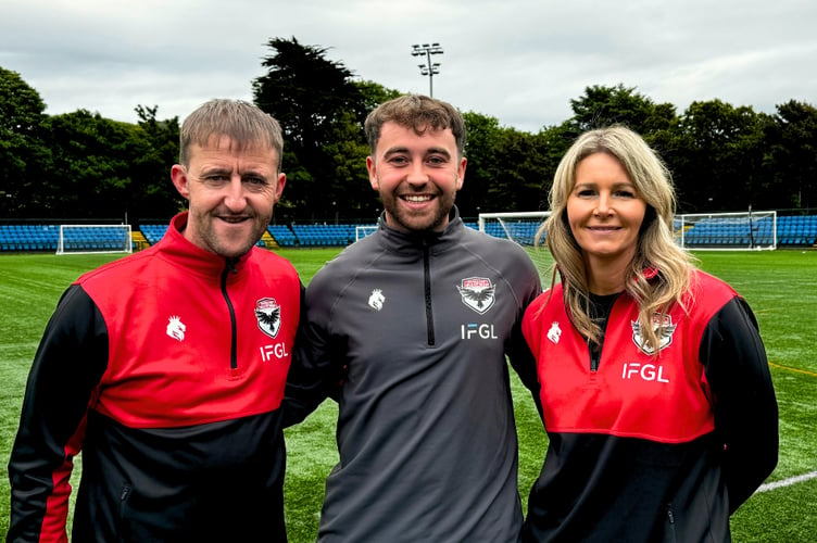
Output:
[[616,157],[599,152],[578,163],[566,211],[591,275],[602,265],[624,269],[631,262],[646,203]]

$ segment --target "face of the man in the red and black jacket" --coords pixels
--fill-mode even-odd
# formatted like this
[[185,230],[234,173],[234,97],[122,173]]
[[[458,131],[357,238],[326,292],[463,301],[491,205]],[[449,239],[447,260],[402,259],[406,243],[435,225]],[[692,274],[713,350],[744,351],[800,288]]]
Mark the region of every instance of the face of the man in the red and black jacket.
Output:
[[284,191],[278,156],[265,146],[230,149],[226,136],[190,147],[189,165],[171,169],[173,184],[189,201],[185,238],[224,257],[248,252],[261,239]]

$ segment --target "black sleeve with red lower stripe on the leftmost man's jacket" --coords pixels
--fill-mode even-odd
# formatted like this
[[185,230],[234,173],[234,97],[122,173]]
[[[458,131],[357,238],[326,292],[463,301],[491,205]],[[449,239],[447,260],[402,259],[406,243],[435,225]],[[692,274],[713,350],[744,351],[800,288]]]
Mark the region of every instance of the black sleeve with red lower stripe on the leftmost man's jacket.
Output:
[[106,365],[102,316],[86,292],[72,286],[46,327],[28,375],[9,462],[7,541],[67,541],[73,459]]

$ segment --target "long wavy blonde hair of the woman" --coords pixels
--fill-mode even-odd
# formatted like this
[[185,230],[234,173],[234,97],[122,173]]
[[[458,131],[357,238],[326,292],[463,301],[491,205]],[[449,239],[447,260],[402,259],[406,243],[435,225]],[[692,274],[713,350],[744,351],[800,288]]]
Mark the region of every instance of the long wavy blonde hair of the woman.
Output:
[[[674,240],[676,199],[669,171],[641,136],[624,126],[594,129],[579,136],[556,168],[549,195],[551,215],[539,228],[537,240],[544,236],[553,255],[552,283],[558,275],[574,326],[582,336],[600,343],[602,330],[587,311],[588,272],[581,248],[567,222],[567,199],[576,185],[576,168],[594,153],[607,153],[617,159],[636,186],[638,197],[646,202],[636,254],[625,273],[625,291],[638,303],[644,339],[648,344],[657,345],[654,317],[667,313],[676,303],[684,307],[683,294],[690,287],[693,258]],[[655,355],[657,352],[656,349]]]

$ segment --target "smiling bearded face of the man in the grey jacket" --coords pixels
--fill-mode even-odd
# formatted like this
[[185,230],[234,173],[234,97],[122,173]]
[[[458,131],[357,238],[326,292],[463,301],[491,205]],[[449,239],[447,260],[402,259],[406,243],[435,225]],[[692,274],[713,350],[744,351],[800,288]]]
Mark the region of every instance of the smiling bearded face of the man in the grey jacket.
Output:
[[385,123],[366,167],[372,188],[384,203],[387,224],[404,231],[445,228],[463,186],[465,162],[457,155],[450,128],[417,135],[412,128]]

